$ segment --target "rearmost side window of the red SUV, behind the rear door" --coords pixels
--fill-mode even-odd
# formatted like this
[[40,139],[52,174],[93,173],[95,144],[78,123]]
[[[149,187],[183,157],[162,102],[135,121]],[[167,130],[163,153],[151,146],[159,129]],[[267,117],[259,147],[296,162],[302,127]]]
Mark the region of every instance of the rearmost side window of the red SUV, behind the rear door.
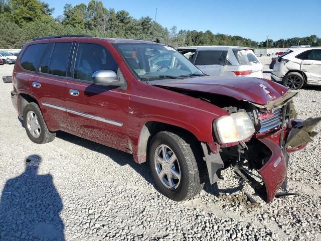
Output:
[[45,53],[46,44],[33,44],[30,45],[26,51],[24,52],[20,64],[21,66],[30,71],[36,71],[39,68],[40,61],[42,59],[42,56]]

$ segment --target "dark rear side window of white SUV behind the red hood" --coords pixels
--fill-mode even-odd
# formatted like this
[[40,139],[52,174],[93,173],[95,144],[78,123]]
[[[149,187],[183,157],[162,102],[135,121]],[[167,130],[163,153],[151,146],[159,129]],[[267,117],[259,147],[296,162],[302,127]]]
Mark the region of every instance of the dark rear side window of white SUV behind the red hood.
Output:
[[199,51],[195,65],[212,65],[212,64],[219,64],[224,65],[226,60],[227,51],[214,51],[214,50],[202,50]]

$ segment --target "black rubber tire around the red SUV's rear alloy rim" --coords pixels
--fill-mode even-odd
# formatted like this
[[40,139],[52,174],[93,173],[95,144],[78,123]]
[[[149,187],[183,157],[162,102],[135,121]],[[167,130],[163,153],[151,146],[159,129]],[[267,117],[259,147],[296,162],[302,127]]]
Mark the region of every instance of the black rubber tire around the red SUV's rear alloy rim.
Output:
[[[28,114],[34,113],[38,119],[37,125],[39,126],[39,136],[35,137],[28,126],[27,123],[27,118],[28,118]],[[34,116],[35,116],[34,115]],[[25,129],[27,132],[27,135],[29,137],[29,139],[37,144],[45,144],[48,142],[52,142],[55,137],[56,137],[56,133],[52,133],[48,130],[48,127],[45,123],[44,117],[42,116],[41,110],[38,106],[38,104],[31,102],[29,104],[26,105],[26,107],[24,108],[24,125],[25,125]]]

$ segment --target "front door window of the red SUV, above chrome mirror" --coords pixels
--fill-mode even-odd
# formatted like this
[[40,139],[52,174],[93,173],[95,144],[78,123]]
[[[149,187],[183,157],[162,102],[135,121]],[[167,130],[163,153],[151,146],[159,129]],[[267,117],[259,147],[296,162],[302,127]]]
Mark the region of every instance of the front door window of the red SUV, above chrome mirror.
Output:
[[92,74],[98,70],[112,70],[117,73],[118,65],[111,54],[101,45],[79,43],[74,78],[92,81]]

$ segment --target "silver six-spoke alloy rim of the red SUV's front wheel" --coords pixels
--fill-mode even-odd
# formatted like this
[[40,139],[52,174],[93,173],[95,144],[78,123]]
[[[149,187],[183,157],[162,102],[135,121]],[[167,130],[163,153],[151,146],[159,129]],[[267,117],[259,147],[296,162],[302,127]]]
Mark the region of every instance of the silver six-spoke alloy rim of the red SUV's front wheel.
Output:
[[167,145],[159,145],[155,150],[154,158],[159,180],[168,189],[178,188],[181,182],[181,169],[173,150]]

